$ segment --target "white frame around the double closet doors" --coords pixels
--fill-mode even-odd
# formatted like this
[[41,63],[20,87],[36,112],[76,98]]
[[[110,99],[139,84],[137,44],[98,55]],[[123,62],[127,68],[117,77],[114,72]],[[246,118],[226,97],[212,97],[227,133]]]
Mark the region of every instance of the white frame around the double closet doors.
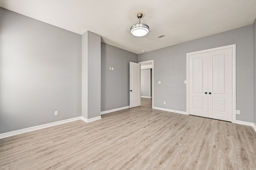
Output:
[[213,49],[206,49],[202,51],[195,51],[191,53],[187,53],[186,56],[186,111],[189,115],[189,56],[199,53],[206,53],[210,51],[222,50],[222,49],[229,49],[231,48],[232,51],[232,59],[231,59],[231,66],[232,66],[232,123],[236,123],[236,44],[226,45],[223,47],[217,47]]

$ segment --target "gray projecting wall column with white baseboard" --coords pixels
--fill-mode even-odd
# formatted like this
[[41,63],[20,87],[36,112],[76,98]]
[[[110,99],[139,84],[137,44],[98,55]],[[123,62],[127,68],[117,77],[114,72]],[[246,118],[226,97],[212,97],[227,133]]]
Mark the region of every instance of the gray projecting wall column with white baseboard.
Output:
[[101,37],[86,31],[82,35],[82,120],[101,119]]

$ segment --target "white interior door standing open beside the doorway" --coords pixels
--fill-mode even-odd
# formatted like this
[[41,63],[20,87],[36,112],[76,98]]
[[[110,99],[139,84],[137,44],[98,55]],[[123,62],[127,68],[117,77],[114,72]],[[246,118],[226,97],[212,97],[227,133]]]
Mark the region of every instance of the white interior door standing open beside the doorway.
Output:
[[140,64],[130,62],[130,108],[140,105]]

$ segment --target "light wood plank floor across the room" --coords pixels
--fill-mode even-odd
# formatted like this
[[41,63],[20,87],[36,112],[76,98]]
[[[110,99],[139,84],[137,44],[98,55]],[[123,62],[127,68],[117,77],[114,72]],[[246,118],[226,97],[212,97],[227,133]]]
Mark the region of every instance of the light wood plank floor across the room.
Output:
[[0,169],[256,170],[252,127],[142,106],[0,139]]

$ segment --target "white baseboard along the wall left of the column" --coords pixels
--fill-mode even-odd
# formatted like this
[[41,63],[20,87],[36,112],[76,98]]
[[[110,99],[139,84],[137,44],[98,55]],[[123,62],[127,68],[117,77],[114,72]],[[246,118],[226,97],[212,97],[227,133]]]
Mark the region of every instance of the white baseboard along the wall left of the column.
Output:
[[34,127],[28,127],[28,128],[25,128],[25,129],[16,130],[16,131],[6,132],[6,133],[0,134],[0,139],[5,138],[5,137],[14,136],[14,135],[19,135],[19,134],[26,133],[26,132],[39,130],[39,129],[44,129],[46,127],[60,125],[60,124],[63,124],[63,123],[68,123],[68,122],[76,121],[76,120],[80,120],[80,119],[81,119],[81,117],[74,117],[74,118],[71,118],[71,119],[56,121],[56,122],[47,123],[47,124],[44,124],[44,125],[38,125],[38,126],[34,126]]

